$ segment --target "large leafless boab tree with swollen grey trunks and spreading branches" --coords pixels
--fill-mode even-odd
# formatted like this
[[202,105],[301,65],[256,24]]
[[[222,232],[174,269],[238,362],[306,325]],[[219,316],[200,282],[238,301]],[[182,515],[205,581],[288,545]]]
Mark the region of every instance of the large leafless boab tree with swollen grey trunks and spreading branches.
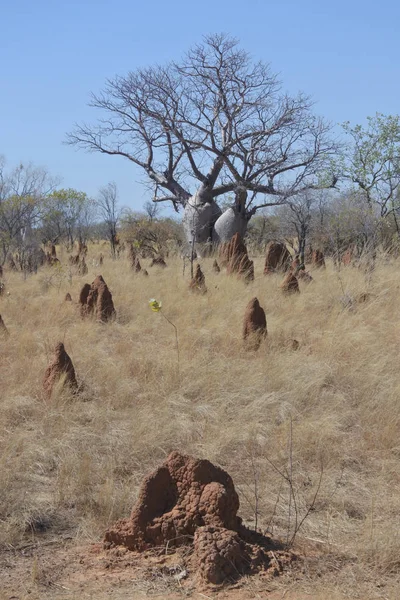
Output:
[[[257,209],[336,183],[330,125],[226,35],[206,36],[179,63],[108,80],[90,105],[101,119],[77,125],[69,143],[141,167],[154,202],[183,208],[189,243],[243,236]],[[224,194],[233,200],[222,214]]]

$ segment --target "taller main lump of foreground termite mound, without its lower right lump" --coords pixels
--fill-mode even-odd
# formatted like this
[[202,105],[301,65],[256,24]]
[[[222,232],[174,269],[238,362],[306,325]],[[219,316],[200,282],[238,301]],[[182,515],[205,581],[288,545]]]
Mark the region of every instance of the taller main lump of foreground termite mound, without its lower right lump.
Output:
[[139,551],[184,545],[204,525],[236,531],[238,508],[228,473],[208,460],[173,452],[144,480],[130,519],[109,529],[105,540]]

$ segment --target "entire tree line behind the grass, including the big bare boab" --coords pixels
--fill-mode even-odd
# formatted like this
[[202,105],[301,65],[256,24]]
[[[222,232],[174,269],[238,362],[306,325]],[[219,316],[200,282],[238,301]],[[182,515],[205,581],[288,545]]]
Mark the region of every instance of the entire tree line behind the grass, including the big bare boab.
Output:
[[[152,201],[124,208],[115,183],[95,198],[61,188],[45,169],[0,162],[0,262],[23,262],[37,243],[120,238],[143,254],[183,253],[248,235],[254,249],[283,238],[304,261],[307,243],[340,255],[400,238],[400,117],[377,113],[341,135],[304,94],[290,96],[269,65],[226,35],[183,60],[139,69],[92,95],[101,112],[77,125],[71,144],[142,169]],[[179,224],[161,202],[183,211]],[[120,235],[121,234],[121,235]]]

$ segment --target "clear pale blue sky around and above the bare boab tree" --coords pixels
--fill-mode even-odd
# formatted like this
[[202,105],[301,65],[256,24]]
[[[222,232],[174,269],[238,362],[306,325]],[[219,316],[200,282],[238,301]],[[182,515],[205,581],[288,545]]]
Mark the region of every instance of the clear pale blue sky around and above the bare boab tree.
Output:
[[0,19],[0,154],[90,195],[114,180],[135,209],[140,170],[65,146],[65,133],[96,118],[89,92],[106,78],[179,59],[203,34],[238,37],[334,123],[400,113],[398,0],[3,0]]

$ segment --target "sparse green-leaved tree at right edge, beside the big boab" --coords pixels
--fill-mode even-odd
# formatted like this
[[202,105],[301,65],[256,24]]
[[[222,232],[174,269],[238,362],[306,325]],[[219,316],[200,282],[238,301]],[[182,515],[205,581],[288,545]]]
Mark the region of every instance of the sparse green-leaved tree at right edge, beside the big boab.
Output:
[[367,126],[344,123],[349,143],[344,153],[344,176],[362,192],[381,217],[393,216],[400,236],[400,117],[377,113]]

